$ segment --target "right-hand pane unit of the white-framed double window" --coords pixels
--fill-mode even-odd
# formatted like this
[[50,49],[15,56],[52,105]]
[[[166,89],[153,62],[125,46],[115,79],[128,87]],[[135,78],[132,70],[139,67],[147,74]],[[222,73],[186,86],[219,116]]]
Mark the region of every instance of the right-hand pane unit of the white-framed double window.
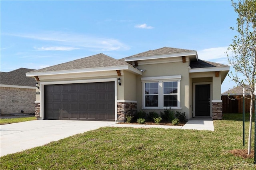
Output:
[[169,81],[164,84],[164,107],[178,107],[178,82]]

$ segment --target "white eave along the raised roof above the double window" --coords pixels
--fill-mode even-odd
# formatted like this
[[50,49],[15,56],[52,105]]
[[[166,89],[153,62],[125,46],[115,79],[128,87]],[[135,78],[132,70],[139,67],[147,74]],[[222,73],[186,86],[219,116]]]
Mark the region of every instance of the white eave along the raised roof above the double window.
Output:
[[150,56],[140,56],[140,57],[131,57],[125,58],[124,61],[139,61],[146,59],[160,59],[160,58],[169,58],[169,57],[182,57],[182,56],[190,56],[192,61],[198,61],[198,55],[196,51],[188,51],[182,53],[170,53],[164,55],[150,55]]

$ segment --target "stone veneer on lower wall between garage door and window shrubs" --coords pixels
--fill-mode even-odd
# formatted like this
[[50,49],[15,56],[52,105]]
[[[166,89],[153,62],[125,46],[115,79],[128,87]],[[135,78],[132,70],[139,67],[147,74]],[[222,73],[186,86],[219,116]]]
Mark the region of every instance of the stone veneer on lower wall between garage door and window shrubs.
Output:
[[137,103],[117,102],[117,121],[125,122],[126,115],[134,115],[137,111]]

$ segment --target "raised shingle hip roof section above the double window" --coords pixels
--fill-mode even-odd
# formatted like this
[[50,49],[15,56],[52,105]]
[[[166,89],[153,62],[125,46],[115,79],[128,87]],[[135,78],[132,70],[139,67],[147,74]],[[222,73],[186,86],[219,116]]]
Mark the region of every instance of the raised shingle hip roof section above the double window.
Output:
[[190,50],[190,49],[180,49],[180,48],[171,48],[171,47],[162,47],[159,49],[149,50],[143,53],[138,53],[135,55],[131,55],[126,58],[132,58],[132,57],[146,57],[146,56],[152,56],[152,55],[164,55],[164,54],[172,54],[172,53],[184,53],[184,52],[190,52],[190,51],[196,51],[196,50]]

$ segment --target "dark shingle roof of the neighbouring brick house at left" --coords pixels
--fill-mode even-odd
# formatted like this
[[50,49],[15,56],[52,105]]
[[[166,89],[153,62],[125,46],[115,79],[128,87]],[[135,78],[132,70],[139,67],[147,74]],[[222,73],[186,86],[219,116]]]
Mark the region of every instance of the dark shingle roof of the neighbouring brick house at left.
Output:
[[34,69],[19,68],[10,72],[0,72],[0,83],[2,85],[19,85],[35,87],[36,80],[26,77],[26,73]]

